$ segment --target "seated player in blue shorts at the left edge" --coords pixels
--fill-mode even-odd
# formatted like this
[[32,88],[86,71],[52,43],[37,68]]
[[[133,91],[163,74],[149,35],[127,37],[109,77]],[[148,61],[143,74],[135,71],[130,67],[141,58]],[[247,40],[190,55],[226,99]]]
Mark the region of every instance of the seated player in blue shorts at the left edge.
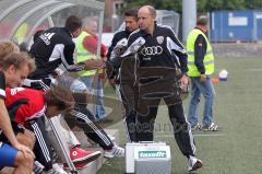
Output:
[[[0,44],[0,50],[4,50],[5,44]],[[0,139],[0,170],[4,166],[13,166],[15,174],[31,174],[33,170],[34,153],[15,138],[10,117],[4,105],[5,86],[20,85],[22,80],[34,69],[34,61],[25,54],[19,51],[0,57],[0,135],[5,135],[9,143]],[[4,159],[4,160],[3,160]]]

